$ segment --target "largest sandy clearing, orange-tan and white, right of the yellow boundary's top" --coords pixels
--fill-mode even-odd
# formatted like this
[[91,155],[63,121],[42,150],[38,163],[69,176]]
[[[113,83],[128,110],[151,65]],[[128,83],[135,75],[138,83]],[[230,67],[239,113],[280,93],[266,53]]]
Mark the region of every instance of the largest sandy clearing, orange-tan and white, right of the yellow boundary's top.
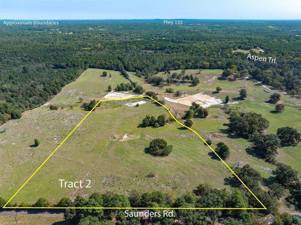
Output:
[[212,106],[212,105],[219,105],[219,104],[223,103],[223,101],[221,99],[203,94],[203,92],[199,93],[199,94],[194,94],[191,96],[183,97],[183,98],[178,98],[178,99],[172,99],[172,98],[167,98],[167,97],[164,97],[164,99],[166,101],[180,103],[180,104],[184,104],[187,106],[191,106],[191,103],[195,102],[197,104],[200,104],[204,108]]

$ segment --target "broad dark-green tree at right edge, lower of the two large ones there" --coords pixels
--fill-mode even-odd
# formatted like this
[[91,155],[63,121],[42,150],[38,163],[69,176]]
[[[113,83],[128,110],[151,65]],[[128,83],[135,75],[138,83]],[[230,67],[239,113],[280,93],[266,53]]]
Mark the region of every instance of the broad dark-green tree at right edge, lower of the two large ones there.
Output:
[[285,165],[284,163],[278,163],[276,166],[276,169],[272,170],[272,174],[275,175],[277,183],[290,185],[299,181],[298,171],[291,166]]

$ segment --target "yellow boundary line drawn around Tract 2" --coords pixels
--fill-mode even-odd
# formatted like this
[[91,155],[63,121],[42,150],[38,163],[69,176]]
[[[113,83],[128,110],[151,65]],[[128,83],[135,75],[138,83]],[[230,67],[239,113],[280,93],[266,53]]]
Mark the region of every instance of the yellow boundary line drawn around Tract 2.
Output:
[[[98,104],[100,102],[103,101],[113,101],[113,100],[123,100],[123,99],[129,99],[129,98],[144,98],[144,97],[148,97],[151,100],[153,100],[154,102],[160,104],[161,106],[163,106],[165,109],[167,109],[167,111],[169,112],[169,114],[172,116],[172,118],[181,126],[191,130],[192,132],[194,132],[195,134],[197,134],[198,137],[200,137],[200,139],[202,139],[202,141],[216,154],[216,156],[228,167],[228,169],[234,174],[235,177],[237,177],[237,179],[247,188],[247,190],[256,198],[256,200],[263,206],[263,208],[133,208],[133,207],[6,207],[6,205],[14,198],[14,196],[17,195],[17,193],[24,187],[24,185],[33,177],[33,175],[36,174],[36,172],[39,171],[39,169],[45,164],[45,162],[47,162],[47,160],[56,152],[56,150],[65,142],[65,140],[67,140],[67,138],[76,130],[76,128],[87,118],[87,116],[89,116],[89,114],[95,109],[96,106],[98,106]],[[43,208],[43,209],[57,209],[57,208],[62,208],[62,209],[67,209],[67,208],[90,208],[90,209],[267,209],[265,208],[265,206],[259,201],[259,199],[253,194],[253,192],[244,184],[244,182],[242,180],[240,180],[240,178],[234,173],[234,171],[227,165],[227,163],[225,163],[224,160],[222,160],[222,158],[210,147],[210,145],[200,136],[200,134],[198,134],[196,131],[194,131],[193,129],[185,126],[184,124],[180,123],[177,119],[175,119],[175,117],[172,115],[172,113],[170,112],[170,110],[164,106],[163,104],[161,104],[160,102],[158,102],[157,100],[154,100],[152,97],[148,96],[148,95],[143,95],[143,96],[134,96],[134,97],[125,97],[125,98],[114,98],[114,99],[104,99],[104,100],[99,100],[98,103],[93,107],[93,109],[91,109],[90,112],[88,112],[88,114],[81,120],[81,122],[79,122],[78,125],[76,125],[76,127],[70,132],[70,134],[68,134],[68,136],[59,144],[59,146],[57,146],[56,149],[54,149],[54,151],[50,154],[50,156],[48,156],[48,158],[39,166],[39,168],[36,169],[36,171],[26,180],[26,182],[19,188],[19,190],[17,190],[17,192],[8,200],[8,202],[6,202],[6,204],[3,206],[3,208]]]

